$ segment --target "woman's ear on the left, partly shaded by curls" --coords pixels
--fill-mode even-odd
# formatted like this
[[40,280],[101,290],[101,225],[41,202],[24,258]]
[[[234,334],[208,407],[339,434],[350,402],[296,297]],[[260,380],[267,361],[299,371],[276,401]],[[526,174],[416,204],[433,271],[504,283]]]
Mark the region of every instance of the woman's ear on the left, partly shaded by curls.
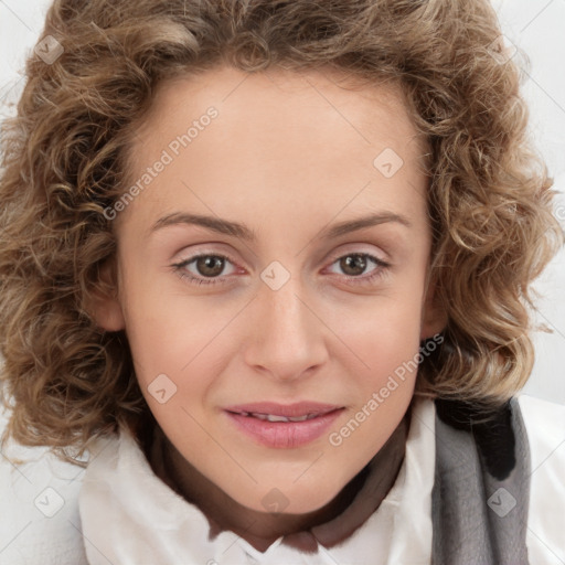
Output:
[[126,328],[126,320],[118,298],[118,277],[115,258],[107,260],[98,271],[98,284],[92,292],[88,311],[96,323],[106,331]]

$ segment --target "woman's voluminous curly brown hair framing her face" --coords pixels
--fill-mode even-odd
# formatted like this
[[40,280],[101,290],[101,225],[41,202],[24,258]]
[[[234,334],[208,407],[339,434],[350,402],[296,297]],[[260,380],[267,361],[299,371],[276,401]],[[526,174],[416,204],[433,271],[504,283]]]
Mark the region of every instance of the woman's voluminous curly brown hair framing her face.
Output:
[[563,233],[500,33],[487,0],[55,0],[41,39],[63,52],[28,58],[3,124],[2,443],[72,460],[70,448],[82,455],[89,438],[151,417],[125,333],[97,327],[87,307],[116,252],[104,211],[127,186],[157,86],[218,65],[323,66],[402,87],[429,142],[431,278],[448,318],[418,390],[512,396],[533,364],[531,281]]

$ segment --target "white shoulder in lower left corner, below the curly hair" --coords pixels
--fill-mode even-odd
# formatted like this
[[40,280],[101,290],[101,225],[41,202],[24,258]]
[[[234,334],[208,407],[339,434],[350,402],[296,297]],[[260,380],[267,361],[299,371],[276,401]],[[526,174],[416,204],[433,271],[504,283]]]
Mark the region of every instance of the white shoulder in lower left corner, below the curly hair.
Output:
[[[0,434],[7,423],[0,404]],[[44,447],[10,444],[0,454],[0,564],[87,564],[77,503],[83,473]]]

